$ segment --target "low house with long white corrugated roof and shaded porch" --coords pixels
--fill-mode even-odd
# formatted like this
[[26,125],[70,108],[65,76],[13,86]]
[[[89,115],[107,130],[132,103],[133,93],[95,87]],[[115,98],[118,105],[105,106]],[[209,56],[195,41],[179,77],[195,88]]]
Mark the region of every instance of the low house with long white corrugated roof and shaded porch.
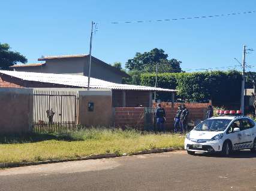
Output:
[[[1,87],[20,88],[87,88],[88,77],[83,75],[64,75],[54,73],[17,72],[0,70]],[[145,87],[140,85],[118,84],[91,78],[90,88],[112,90],[113,107],[152,107],[152,93],[168,92],[172,95],[176,90]]]

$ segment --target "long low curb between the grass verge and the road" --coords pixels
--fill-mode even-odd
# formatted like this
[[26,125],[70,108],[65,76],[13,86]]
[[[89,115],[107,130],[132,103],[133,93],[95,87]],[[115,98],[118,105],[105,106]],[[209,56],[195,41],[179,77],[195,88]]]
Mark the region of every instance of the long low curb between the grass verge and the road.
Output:
[[0,163],[0,168],[14,168],[14,167],[33,166],[33,165],[53,164],[57,162],[85,161],[90,159],[103,159],[103,158],[116,158],[121,156],[145,155],[145,154],[151,154],[151,153],[172,152],[174,150],[183,150],[183,149],[181,147],[176,147],[176,148],[170,147],[170,148],[160,148],[160,149],[147,149],[147,150],[141,150],[139,152],[135,152],[131,154],[124,153],[122,155],[118,155],[117,153],[104,153],[104,154],[89,155],[81,158],[59,159],[59,160],[52,160],[52,161],[2,162]]

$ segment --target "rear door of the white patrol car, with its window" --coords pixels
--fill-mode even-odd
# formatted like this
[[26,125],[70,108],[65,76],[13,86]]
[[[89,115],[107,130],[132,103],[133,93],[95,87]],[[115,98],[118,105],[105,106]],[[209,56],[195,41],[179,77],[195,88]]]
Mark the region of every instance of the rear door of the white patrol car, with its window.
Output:
[[251,147],[254,141],[254,125],[251,123],[251,121],[249,121],[248,118],[240,119],[240,121],[242,125],[242,130],[245,132],[245,142],[243,144],[243,147],[246,149]]

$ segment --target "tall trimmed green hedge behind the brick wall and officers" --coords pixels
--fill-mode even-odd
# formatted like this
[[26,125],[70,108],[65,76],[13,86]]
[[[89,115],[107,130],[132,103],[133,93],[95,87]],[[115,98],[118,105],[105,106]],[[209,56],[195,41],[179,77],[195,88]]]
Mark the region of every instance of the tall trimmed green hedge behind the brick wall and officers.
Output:
[[[158,75],[157,87],[176,89],[177,96],[187,101],[214,101],[215,104],[224,102],[234,103],[240,100],[240,72],[213,71],[194,73],[161,73]],[[153,87],[155,73],[141,75],[141,85]],[[170,99],[170,95],[158,95],[161,100]]]

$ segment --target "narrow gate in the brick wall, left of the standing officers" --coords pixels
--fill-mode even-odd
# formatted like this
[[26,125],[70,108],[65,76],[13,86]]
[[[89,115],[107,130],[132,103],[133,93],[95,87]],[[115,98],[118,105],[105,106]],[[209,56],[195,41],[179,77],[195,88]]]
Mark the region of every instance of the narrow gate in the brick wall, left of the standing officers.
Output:
[[155,131],[155,108],[144,108],[144,130]]

